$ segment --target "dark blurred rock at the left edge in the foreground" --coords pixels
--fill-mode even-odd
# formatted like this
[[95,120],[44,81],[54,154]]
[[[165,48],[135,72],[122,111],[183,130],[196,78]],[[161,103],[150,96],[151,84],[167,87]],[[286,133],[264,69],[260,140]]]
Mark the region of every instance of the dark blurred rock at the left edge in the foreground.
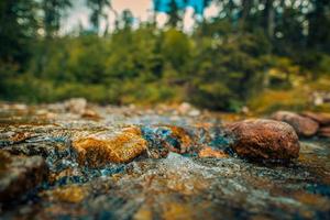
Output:
[[0,202],[16,200],[48,176],[41,156],[16,156],[0,151]]

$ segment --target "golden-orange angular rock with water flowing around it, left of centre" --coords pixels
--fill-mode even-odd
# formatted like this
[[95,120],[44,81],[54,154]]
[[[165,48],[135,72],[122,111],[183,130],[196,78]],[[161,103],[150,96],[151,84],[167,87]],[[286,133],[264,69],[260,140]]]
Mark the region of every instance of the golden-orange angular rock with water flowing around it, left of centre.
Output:
[[128,163],[146,150],[139,128],[114,133],[101,133],[73,142],[80,165],[103,166],[107,163]]

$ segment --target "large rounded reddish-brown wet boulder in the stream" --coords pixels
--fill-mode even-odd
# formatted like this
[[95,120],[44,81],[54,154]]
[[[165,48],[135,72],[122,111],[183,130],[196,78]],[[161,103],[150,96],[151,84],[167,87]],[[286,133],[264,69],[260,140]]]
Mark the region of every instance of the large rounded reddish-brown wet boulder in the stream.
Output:
[[290,160],[299,156],[299,140],[287,123],[274,120],[245,120],[228,125],[233,135],[231,147],[243,157]]

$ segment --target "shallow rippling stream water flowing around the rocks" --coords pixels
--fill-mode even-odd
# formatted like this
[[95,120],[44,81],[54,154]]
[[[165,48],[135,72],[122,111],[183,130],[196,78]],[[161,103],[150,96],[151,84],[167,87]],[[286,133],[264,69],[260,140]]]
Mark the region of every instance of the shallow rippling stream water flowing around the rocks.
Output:
[[[42,155],[51,172],[48,180],[2,205],[1,218],[330,219],[330,140],[301,140],[299,158],[290,163],[254,163],[230,152],[221,117],[95,108],[100,119],[48,106],[1,108],[0,147]],[[141,128],[148,151],[161,151],[164,142],[175,146],[178,140],[168,125],[179,125],[193,144],[208,144],[230,156],[169,152],[163,158],[147,154],[99,168],[79,165],[73,140],[131,124]],[[12,140],[18,133],[23,138]]]

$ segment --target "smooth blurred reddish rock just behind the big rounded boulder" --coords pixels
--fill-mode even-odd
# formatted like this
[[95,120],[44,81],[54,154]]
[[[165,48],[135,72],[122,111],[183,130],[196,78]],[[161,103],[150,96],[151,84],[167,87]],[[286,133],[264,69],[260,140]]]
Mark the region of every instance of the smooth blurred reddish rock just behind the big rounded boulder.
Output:
[[319,129],[318,122],[289,111],[277,111],[271,118],[290,124],[300,136],[312,136]]

